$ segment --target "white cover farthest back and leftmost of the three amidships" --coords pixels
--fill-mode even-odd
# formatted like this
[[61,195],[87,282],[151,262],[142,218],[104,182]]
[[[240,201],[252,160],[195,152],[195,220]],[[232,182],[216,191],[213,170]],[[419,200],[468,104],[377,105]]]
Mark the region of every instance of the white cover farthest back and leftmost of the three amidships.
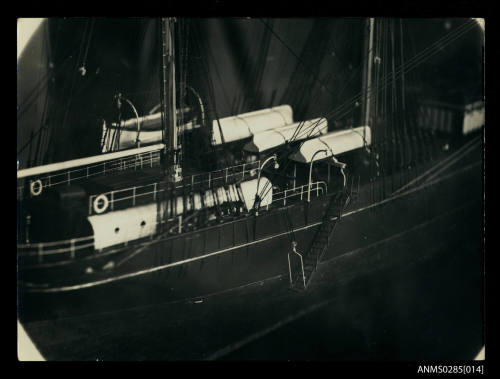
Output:
[[[289,105],[224,117],[212,122],[212,144],[220,145],[223,139],[224,143],[238,141],[264,130],[283,127],[291,123],[293,123],[293,114]],[[224,138],[221,137],[221,130]]]

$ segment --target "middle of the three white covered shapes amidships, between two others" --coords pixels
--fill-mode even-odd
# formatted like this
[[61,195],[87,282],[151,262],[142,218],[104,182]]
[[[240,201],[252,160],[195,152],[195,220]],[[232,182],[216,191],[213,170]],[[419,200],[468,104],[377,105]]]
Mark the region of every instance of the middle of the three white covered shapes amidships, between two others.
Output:
[[[298,128],[300,129],[298,130]],[[328,132],[328,121],[326,118],[315,118],[313,120],[295,122],[272,130],[266,130],[254,134],[252,141],[245,144],[243,149],[253,153],[261,153],[277,146],[284,145],[290,140],[300,141],[310,136],[326,134]]]

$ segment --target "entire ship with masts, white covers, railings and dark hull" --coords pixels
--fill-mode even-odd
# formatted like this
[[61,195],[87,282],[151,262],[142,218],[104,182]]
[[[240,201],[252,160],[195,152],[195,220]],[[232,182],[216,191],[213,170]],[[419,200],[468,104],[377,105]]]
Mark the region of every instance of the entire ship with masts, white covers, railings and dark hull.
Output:
[[[84,36],[95,22],[86,21]],[[470,183],[481,181],[482,99],[467,106],[412,104],[404,87],[411,71],[443,47],[481,33],[476,21],[461,20],[411,58],[403,57],[400,21],[360,22],[360,90],[307,118],[296,108],[312,90],[299,87],[295,104],[219,117],[213,96],[186,80],[183,38],[199,21],[150,22],[161,42],[159,102],[151,111],[140,114],[132,96],[116,91],[110,112],[87,133],[95,154],[43,164],[18,157],[21,318],[32,302],[112,296],[129,283],[158,282],[179,299],[281,275],[290,288],[307,291],[319,262],[457,206],[480,204]],[[241,22],[262,23],[275,37],[268,21]],[[318,25],[324,32],[330,24]],[[80,52],[78,64],[88,45]],[[77,65],[75,75],[86,70]],[[252,75],[256,80],[262,72]],[[329,96],[314,72],[305,76]],[[28,150],[28,157],[39,156],[46,130],[28,134],[19,156]],[[443,200],[446,193],[453,196]],[[401,212],[407,222],[390,221]],[[376,228],[376,239],[366,240],[365,232]]]

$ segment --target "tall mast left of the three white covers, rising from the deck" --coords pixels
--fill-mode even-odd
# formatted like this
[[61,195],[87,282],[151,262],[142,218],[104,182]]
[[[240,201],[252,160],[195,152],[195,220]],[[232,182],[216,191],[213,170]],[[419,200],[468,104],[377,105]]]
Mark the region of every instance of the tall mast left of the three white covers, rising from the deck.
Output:
[[164,118],[166,174],[168,181],[182,180],[182,168],[179,162],[180,147],[175,98],[175,55],[174,55],[175,18],[162,18],[162,116]]

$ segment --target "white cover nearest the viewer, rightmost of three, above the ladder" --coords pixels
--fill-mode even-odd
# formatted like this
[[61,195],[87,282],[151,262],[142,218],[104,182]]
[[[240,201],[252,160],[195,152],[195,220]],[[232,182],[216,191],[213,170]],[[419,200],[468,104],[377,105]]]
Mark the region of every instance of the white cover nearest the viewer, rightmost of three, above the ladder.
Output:
[[366,145],[371,144],[369,126],[339,130],[304,142],[299,151],[289,158],[296,162],[309,163],[318,150],[326,150],[326,153],[316,154],[315,161],[359,149],[365,143]]

